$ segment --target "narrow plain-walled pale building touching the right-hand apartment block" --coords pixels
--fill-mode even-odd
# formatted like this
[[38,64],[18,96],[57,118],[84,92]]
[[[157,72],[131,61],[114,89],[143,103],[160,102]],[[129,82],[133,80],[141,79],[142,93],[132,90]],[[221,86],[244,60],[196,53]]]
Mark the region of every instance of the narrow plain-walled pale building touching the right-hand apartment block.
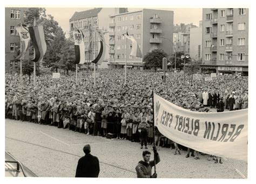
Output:
[[202,58],[202,21],[199,27],[190,29],[190,58],[194,61],[201,61]]

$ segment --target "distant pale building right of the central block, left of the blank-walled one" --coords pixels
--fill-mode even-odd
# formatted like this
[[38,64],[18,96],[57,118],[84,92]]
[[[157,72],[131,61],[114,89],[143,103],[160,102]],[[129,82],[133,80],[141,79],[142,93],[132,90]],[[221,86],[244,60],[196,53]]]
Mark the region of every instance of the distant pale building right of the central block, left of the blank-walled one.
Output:
[[176,24],[173,26],[173,52],[186,52],[186,55],[190,55],[190,29],[197,27],[191,24]]

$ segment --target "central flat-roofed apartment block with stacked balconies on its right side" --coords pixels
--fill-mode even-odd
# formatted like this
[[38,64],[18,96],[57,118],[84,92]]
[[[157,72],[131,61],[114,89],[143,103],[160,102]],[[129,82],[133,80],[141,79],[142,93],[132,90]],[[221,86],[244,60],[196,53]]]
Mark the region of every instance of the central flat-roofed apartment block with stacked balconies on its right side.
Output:
[[[163,49],[172,54],[173,11],[143,9],[140,11],[119,13],[110,16],[109,22],[109,67],[123,68],[126,60],[126,38],[128,32],[142,51],[142,55],[152,52],[153,49]],[[164,36],[167,39],[162,39]],[[127,40],[127,67],[140,68],[142,58],[129,55],[131,41]]]

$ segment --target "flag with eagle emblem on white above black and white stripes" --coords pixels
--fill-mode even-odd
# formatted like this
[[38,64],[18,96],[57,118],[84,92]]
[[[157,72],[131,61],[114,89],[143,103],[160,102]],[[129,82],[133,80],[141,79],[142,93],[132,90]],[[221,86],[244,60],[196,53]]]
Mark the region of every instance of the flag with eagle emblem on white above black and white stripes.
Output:
[[85,46],[84,46],[84,34],[82,31],[74,31],[73,36],[75,39],[75,64],[85,63]]

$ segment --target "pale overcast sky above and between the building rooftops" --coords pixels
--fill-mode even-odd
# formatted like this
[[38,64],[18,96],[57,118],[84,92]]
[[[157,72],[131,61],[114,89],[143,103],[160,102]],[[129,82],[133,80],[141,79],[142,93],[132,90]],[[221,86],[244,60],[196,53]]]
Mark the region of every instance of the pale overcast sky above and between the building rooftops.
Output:
[[[97,7],[99,8],[99,7]],[[69,19],[77,11],[85,11],[92,8],[46,8],[46,15],[50,14],[62,27],[63,31],[69,31]],[[174,24],[190,24],[199,26],[199,21],[202,20],[202,9],[201,8],[151,8],[159,10],[171,10],[174,12],[173,23]],[[141,10],[138,8],[128,8],[129,12]]]

